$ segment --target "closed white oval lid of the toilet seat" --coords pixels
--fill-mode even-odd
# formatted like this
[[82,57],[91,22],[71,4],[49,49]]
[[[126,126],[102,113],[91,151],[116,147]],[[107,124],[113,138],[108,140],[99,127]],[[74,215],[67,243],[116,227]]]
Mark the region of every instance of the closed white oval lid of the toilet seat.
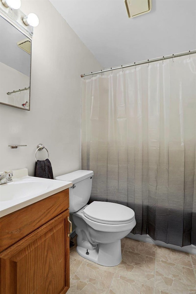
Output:
[[104,224],[127,224],[135,218],[133,209],[113,202],[94,201],[83,212],[85,217]]

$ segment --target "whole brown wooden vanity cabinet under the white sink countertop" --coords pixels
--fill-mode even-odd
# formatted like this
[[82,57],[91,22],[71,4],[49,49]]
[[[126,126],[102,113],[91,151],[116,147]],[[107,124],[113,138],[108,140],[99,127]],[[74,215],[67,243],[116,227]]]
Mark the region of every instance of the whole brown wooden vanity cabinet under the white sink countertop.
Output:
[[[67,292],[69,288],[68,207],[69,189],[0,218],[0,232],[4,237],[6,235],[6,238],[11,235],[9,242],[3,242],[2,234],[0,235],[1,246],[4,248],[7,246],[5,243],[9,245],[12,243],[0,253],[0,294]],[[28,218],[28,214],[35,209],[38,210],[32,216],[32,221]],[[29,221],[23,223],[21,218],[23,220],[28,218]],[[7,229],[2,228],[2,225],[6,225],[5,220],[8,222]]]

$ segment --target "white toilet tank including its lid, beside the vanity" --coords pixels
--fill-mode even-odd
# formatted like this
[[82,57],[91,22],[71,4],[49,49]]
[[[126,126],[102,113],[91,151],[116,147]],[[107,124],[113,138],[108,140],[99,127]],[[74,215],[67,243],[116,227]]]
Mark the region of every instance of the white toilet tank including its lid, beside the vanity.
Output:
[[70,213],[76,212],[85,206],[91,195],[93,171],[73,171],[69,174],[60,175],[56,180],[72,182],[69,188],[70,194]]

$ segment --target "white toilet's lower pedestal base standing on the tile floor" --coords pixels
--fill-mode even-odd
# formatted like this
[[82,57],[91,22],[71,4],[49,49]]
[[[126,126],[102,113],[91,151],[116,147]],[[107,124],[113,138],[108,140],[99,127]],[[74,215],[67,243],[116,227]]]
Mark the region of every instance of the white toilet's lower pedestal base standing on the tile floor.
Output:
[[93,250],[88,249],[88,255],[86,248],[77,246],[76,251],[80,256],[101,266],[117,266],[122,260],[120,240],[108,244],[99,244]]

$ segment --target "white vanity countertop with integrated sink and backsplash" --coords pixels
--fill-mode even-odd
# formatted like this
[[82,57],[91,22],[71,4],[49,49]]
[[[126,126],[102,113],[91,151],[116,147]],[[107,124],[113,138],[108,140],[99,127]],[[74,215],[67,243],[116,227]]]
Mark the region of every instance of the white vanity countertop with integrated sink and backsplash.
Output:
[[28,176],[26,168],[15,170],[13,182],[0,185],[0,217],[71,186],[71,182]]

